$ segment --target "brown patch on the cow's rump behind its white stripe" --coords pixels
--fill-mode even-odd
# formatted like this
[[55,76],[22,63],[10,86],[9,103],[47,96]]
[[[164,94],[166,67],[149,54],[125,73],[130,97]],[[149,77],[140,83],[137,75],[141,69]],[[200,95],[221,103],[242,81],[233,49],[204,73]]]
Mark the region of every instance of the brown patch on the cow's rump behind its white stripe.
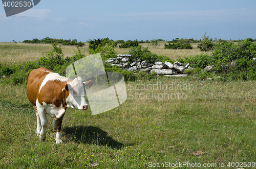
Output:
[[41,83],[49,73],[53,73],[53,71],[48,70],[45,67],[40,67],[32,70],[31,73],[29,74],[28,85],[27,85],[27,96],[30,103],[34,106],[35,106],[37,93],[41,86]]

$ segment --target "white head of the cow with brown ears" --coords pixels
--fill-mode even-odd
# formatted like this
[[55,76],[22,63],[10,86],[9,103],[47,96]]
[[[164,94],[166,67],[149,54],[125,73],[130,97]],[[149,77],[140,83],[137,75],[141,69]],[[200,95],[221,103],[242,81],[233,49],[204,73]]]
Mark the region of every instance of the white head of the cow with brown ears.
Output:
[[81,78],[75,78],[73,81],[67,83],[65,89],[69,91],[67,98],[68,107],[78,108],[79,110],[88,109],[86,102],[86,85],[92,86],[93,81],[82,82]]

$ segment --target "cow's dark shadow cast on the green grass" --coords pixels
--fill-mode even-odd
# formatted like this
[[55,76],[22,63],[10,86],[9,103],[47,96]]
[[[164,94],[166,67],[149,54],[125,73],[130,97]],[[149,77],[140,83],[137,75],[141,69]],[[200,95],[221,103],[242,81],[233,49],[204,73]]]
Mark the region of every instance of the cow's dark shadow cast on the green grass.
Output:
[[74,141],[84,144],[97,144],[101,146],[108,146],[112,149],[121,149],[124,146],[132,146],[133,144],[125,144],[114,140],[108,136],[108,133],[94,126],[75,126],[63,127],[61,129],[67,141]]

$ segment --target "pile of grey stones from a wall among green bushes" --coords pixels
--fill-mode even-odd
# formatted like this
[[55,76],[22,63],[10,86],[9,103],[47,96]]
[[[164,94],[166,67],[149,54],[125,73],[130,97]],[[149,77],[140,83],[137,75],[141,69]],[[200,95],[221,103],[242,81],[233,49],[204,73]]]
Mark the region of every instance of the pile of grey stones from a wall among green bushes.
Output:
[[[174,62],[174,64],[169,62],[156,62],[155,64],[148,64],[146,60],[141,61],[139,58],[131,63],[128,64],[129,57],[132,55],[117,55],[117,58],[110,58],[105,63],[109,63],[111,66],[119,66],[126,68],[128,71],[146,71],[152,73],[156,73],[158,75],[176,75],[177,74],[184,74],[185,70],[187,69],[193,69],[189,66],[189,63],[187,63],[185,66],[183,63],[180,62]],[[177,77],[181,77],[184,75],[179,75]]]

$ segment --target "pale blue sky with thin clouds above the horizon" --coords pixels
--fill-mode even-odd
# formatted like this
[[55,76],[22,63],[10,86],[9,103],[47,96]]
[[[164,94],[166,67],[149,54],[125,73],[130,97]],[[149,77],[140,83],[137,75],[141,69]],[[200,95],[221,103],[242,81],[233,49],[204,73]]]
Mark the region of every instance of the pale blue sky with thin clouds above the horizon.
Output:
[[0,42],[43,39],[256,39],[255,0],[42,0],[6,17],[0,6]]

